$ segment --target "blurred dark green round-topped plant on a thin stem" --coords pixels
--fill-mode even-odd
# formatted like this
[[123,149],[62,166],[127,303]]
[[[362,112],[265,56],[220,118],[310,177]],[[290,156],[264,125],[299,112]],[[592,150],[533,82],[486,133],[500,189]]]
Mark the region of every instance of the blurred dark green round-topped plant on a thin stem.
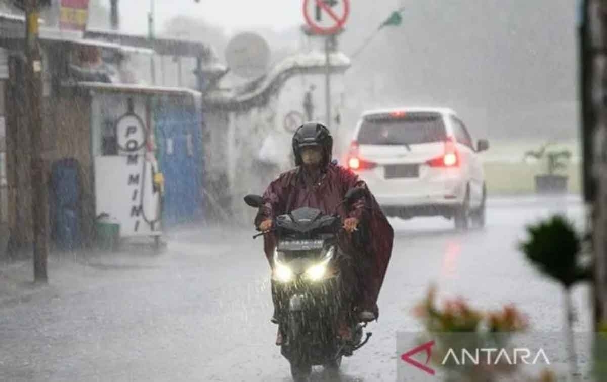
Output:
[[591,264],[583,264],[582,237],[574,225],[561,215],[528,225],[527,236],[527,240],[520,243],[520,250],[541,273],[563,286],[570,372],[577,375],[570,291],[577,282],[592,278]]

